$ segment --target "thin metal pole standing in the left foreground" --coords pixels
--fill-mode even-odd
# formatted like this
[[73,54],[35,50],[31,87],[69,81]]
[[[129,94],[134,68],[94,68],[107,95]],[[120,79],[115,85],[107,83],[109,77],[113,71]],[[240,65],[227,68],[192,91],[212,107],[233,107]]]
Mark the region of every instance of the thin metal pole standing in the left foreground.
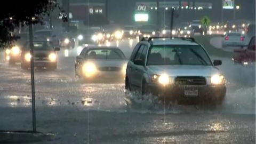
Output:
[[36,132],[34,44],[33,44],[33,27],[31,23],[29,25],[29,46],[30,46],[30,70],[31,70],[32,123],[33,123],[33,132]]

